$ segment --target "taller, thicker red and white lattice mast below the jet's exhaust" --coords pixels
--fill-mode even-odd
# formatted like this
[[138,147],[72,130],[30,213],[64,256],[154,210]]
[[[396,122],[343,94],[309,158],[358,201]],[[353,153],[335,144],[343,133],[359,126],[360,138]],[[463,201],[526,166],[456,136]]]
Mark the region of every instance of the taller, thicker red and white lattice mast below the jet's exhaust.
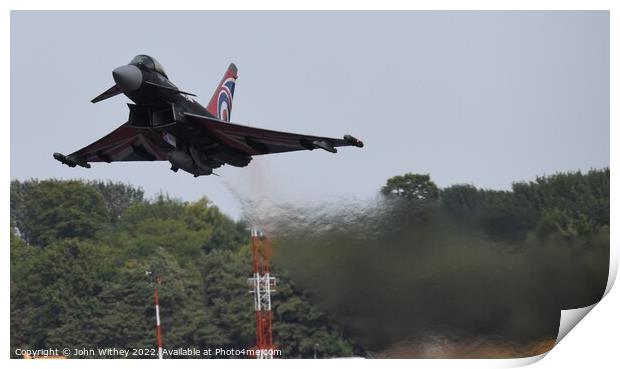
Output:
[[275,292],[276,279],[269,274],[269,241],[256,229],[251,230],[253,275],[248,278],[254,294],[256,311],[256,358],[273,359],[273,333],[271,327],[271,294]]

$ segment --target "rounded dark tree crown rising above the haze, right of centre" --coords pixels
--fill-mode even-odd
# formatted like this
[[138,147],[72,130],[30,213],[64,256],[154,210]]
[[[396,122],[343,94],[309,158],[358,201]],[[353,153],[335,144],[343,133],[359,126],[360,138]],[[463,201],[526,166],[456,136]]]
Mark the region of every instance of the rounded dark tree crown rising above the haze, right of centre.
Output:
[[381,192],[386,196],[404,197],[414,201],[437,200],[439,197],[439,189],[428,174],[407,173],[392,177],[387,180]]

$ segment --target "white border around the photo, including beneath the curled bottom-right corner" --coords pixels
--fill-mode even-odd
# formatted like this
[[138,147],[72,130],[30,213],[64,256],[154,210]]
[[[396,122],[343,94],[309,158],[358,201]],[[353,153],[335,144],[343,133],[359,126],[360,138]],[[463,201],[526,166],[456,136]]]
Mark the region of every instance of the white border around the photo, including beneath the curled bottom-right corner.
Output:
[[[143,5],[139,1],[130,1],[130,0],[108,0],[108,1],[89,1],[89,2],[80,2],[80,1],[67,1],[67,0],[59,0],[59,1],[6,1],[5,4],[8,4],[7,11],[2,14],[2,43],[4,50],[9,50],[10,43],[10,13],[9,9],[20,9],[20,10],[33,10],[33,9],[87,9],[87,10],[96,10],[96,9],[123,9],[123,10],[133,10],[133,9],[142,9]],[[611,91],[610,98],[612,102],[617,100],[617,86],[618,86],[618,74],[615,73],[615,69],[613,66],[618,65],[618,27],[617,27],[617,19],[616,11],[618,9],[617,2],[614,1],[551,1],[551,0],[524,0],[524,1],[469,1],[467,3],[463,1],[394,1],[394,0],[382,0],[382,1],[368,1],[368,0],[359,0],[354,2],[346,2],[341,0],[317,0],[317,1],[249,1],[249,0],[239,0],[239,1],[216,1],[216,2],[205,2],[205,1],[192,1],[192,0],[176,0],[176,1],[162,1],[162,0],[152,0],[148,2],[148,5],[151,9],[162,9],[162,10],[171,10],[171,9],[214,9],[214,10],[228,10],[228,9],[290,9],[290,10],[303,10],[303,9],[329,9],[329,10],[339,10],[339,9],[419,9],[419,10],[447,10],[447,9],[470,9],[470,10],[479,10],[479,9],[493,9],[493,10],[548,10],[548,9],[558,9],[558,10],[573,10],[573,9],[611,9]],[[52,8],[53,6],[53,8]],[[113,26],[113,25],[111,25]],[[9,57],[4,57],[1,60],[2,70],[5,75],[5,88],[2,91],[2,99],[0,100],[2,103],[2,112],[5,117],[4,119],[4,127],[6,127],[7,131],[10,131],[10,59]],[[614,104],[611,105],[611,122],[617,121],[617,109]],[[50,122],[53,124],[53,122]],[[611,124],[611,132],[610,137],[617,137],[618,129],[614,124]],[[5,132],[3,135],[4,144],[0,148],[2,153],[4,154],[2,165],[3,165],[3,174],[4,181],[3,186],[5,186],[5,190],[3,192],[3,200],[5,203],[5,227],[9,224],[9,211],[8,211],[8,203],[9,203],[9,182],[10,182],[10,167],[9,167],[9,155],[10,155],[10,132]],[[617,140],[616,140],[617,141]],[[614,148],[613,140],[611,147],[611,163],[617,162],[618,158],[618,150]],[[614,188],[614,184],[617,182],[615,180],[616,175],[615,172],[612,171],[612,182],[611,188]],[[615,280],[615,275],[617,273],[618,267],[618,240],[616,233],[614,230],[616,229],[616,222],[614,214],[618,211],[618,200],[617,196],[614,196],[612,193],[611,196],[611,219],[612,219],[612,232],[611,232],[611,249],[612,249],[612,262],[610,266],[610,273],[613,277],[610,278],[608,282],[608,290],[613,285]],[[5,228],[8,230],[8,227]],[[8,263],[8,244],[9,237],[8,232],[4,231],[2,233],[2,243],[5,245],[5,263]],[[5,264],[6,266],[6,264]],[[9,270],[8,268],[3,268],[3,279],[4,283],[2,283],[2,291],[0,292],[2,296],[9,296]],[[538,365],[542,365],[543,367],[562,367],[562,368],[572,368],[572,367],[583,367],[584,365],[592,365],[595,366],[609,366],[610,363],[617,362],[616,350],[617,344],[615,333],[618,328],[618,314],[620,307],[620,298],[618,297],[617,291],[611,291],[608,296],[606,296],[603,301],[594,309],[595,312],[590,314],[588,318],[585,319],[583,323],[581,323],[576,328],[576,333],[570,334],[565,338],[560,345],[550,351],[549,358],[543,360]],[[8,299],[4,299],[4,304],[2,305],[2,313],[4,317],[4,327],[2,330],[2,344],[5,350],[8,351],[9,347],[9,301]],[[574,312],[575,313],[575,312]],[[578,313],[578,312],[577,312]],[[569,313],[570,315],[570,313]],[[539,357],[529,358],[529,359],[511,359],[511,360],[334,360],[334,361],[322,361],[320,365],[338,365],[341,366],[351,366],[355,365],[355,367],[365,367],[365,366],[407,366],[407,367],[472,367],[472,368],[485,368],[485,367],[512,367],[528,364],[531,362],[535,362],[538,359],[544,357],[545,355],[540,355]],[[5,358],[8,357],[8,352],[5,354]],[[36,364],[33,361],[22,361],[22,360],[11,360],[10,365],[30,365],[29,363],[33,363],[33,365],[59,365],[60,361],[37,361]],[[66,360],[62,361],[63,365],[68,366],[82,366],[84,362],[78,360]],[[89,366],[95,367],[107,367],[110,365],[109,362],[101,361],[101,360],[89,360],[86,362]],[[129,366],[132,365],[145,365],[144,361],[114,361],[113,365],[122,365]],[[167,365],[170,363],[166,363],[166,361],[151,361],[147,365],[153,365],[158,367],[160,365]],[[312,360],[296,360],[295,362],[291,362],[290,360],[275,360],[273,362],[262,362],[257,363],[255,360],[235,360],[233,361],[222,361],[222,360],[212,360],[205,362],[203,360],[185,360],[182,363],[176,362],[175,365],[184,365],[189,367],[204,367],[204,365],[209,366],[231,366],[235,367],[255,367],[255,366],[286,366],[290,365],[295,366],[306,366],[306,367],[314,367],[316,362]],[[598,365],[596,365],[598,364]],[[132,365],[133,366],[133,365]]]

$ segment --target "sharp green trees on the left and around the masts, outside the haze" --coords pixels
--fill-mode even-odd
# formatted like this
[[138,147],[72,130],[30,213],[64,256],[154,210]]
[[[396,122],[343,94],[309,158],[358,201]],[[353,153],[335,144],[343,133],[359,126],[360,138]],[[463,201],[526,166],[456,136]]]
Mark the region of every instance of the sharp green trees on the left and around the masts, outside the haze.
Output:
[[[11,182],[11,352],[155,347],[150,271],[167,348],[255,345],[249,232],[206,198],[112,182]],[[328,316],[275,268],[283,357],[351,356]],[[14,354],[12,354],[14,355]]]

